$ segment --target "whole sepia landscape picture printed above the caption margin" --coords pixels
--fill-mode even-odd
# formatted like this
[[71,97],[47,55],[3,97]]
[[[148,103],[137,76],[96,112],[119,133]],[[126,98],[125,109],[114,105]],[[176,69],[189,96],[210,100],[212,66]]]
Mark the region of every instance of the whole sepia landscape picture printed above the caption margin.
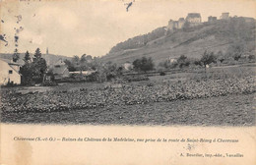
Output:
[[3,3],[3,123],[255,125],[254,7]]

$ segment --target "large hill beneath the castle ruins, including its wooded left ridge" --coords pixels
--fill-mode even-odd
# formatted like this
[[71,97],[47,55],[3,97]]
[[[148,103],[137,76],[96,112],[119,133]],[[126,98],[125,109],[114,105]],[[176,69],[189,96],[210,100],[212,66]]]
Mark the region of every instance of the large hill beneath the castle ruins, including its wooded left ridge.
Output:
[[200,58],[205,50],[228,53],[238,45],[243,52],[255,54],[255,20],[252,18],[229,18],[197,27],[183,27],[167,32],[160,27],[148,34],[135,36],[115,45],[102,56],[103,62],[117,64],[133,62],[137,58],[152,57],[156,63],[185,55]]

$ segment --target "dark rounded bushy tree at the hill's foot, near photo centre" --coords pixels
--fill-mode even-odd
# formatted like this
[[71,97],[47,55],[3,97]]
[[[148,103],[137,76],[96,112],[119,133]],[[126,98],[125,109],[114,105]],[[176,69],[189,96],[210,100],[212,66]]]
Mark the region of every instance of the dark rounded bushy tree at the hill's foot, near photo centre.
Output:
[[137,71],[147,72],[147,71],[154,70],[155,64],[151,57],[149,58],[142,57],[141,59],[136,59],[133,62],[133,66],[134,66],[134,69]]

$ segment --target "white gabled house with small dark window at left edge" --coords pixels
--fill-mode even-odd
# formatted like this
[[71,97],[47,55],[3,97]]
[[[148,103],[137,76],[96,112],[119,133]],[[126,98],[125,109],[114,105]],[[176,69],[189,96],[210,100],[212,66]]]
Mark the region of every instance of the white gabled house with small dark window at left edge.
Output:
[[21,84],[21,65],[7,59],[0,59],[0,85],[9,83]]

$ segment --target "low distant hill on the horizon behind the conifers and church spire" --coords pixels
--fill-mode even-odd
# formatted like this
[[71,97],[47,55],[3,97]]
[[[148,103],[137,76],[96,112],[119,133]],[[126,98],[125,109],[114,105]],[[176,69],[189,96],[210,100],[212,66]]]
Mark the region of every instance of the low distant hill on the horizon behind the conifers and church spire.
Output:
[[[32,56],[33,56],[33,54],[31,54],[31,57]],[[20,60],[18,61],[18,63],[23,65],[24,64],[24,60],[23,60],[24,57],[25,57],[25,53],[20,53]],[[42,54],[41,57],[46,60],[47,65],[52,65],[52,64],[56,63],[59,59],[71,60],[71,57],[62,56],[62,55],[54,55],[54,54]],[[11,54],[11,53],[0,53],[0,58],[11,60],[13,58],[13,54]]]

